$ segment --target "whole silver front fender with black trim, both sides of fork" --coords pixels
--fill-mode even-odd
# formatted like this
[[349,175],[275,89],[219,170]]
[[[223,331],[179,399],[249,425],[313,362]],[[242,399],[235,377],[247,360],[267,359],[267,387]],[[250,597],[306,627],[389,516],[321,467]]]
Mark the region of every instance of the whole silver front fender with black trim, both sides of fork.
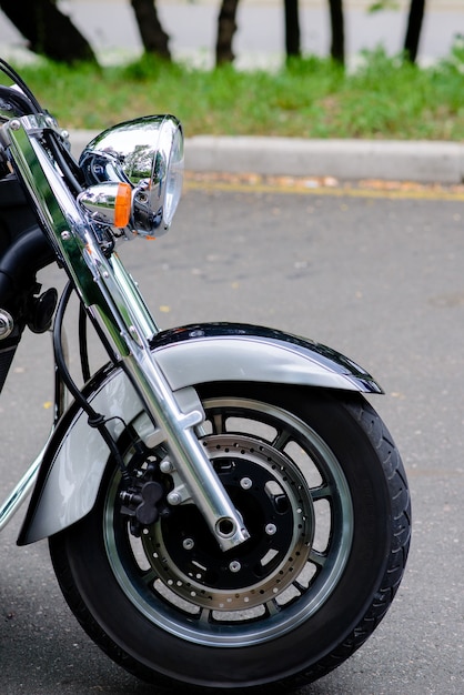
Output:
[[[160,333],[152,350],[178,402],[192,402],[192,386],[209,382],[264,382],[382,393],[357,364],[312,341],[244,324],[199,324]],[[118,439],[143,411],[121,369],[103,367],[85,396]],[[195,397],[195,396],[193,396]],[[100,434],[75,404],[60,421],[43,456],[18,538],[20,545],[53,535],[92,508],[109,456]]]

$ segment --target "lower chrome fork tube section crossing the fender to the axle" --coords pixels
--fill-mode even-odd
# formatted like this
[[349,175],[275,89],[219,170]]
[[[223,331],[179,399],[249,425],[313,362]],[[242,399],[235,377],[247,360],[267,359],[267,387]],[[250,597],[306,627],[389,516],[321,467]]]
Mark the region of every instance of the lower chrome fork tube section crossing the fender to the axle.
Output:
[[[190,405],[188,412],[183,412],[179,405],[175,393],[150,350],[149,340],[153,336],[154,325],[148,320],[143,300],[118,256],[111,260],[110,266],[102,255],[95,262],[97,249],[88,248],[84,258],[93,264],[94,280],[107,303],[115,303],[112,314],[120,318],[119,333],[124,345],[130,348],[123,355],[122,365],[151,414],[153,424],[164,432],[172,456],[170,465],[183,483],[168,495],[168,502],[176,505],[193,501],[220,547],[223,551],[235,547],[250,535],[195,435],[194,427],[204,420],[200,401],[195,399],[195,404]],[[124,312],[125,321],[122,320]],[[100,321],[103,318],[101,315]]]

